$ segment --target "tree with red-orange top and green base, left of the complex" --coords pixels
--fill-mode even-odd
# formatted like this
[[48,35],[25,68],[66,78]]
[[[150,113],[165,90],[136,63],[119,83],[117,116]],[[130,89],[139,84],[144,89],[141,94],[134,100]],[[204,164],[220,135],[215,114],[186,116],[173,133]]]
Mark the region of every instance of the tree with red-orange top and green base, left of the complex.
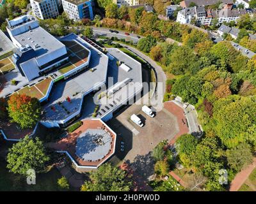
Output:
[[33,128],[40,120],[41,106],[36,98],[26,94],[13,94],[8,100],[8,113],[21,128]]

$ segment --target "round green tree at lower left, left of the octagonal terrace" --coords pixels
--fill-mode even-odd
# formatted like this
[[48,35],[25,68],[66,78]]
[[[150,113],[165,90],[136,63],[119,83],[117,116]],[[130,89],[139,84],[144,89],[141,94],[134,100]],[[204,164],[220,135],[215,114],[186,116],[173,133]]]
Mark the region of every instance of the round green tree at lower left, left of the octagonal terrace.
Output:
[[49,159],[43,143],[38,138],[34,140],[25,136],[9,149],[6,167],[13,173],[21,175],[26,175],[30,169],[35,170],[36,173],[42,173]]

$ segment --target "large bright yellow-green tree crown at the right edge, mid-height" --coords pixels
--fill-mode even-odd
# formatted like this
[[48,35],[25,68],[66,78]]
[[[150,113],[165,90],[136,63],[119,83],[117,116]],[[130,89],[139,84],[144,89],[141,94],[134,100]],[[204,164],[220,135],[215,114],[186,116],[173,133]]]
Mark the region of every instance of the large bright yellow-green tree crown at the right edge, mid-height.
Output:
[[214,103],[214,129],[228,148],[244,142],[248,130],[256,124],[255,98],[228,96]]

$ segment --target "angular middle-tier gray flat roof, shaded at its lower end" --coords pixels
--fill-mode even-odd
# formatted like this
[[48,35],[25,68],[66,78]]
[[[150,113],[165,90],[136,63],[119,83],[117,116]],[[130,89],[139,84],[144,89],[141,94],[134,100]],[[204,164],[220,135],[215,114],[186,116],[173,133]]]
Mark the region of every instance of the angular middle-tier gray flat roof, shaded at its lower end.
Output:
[[[44,114],[44,120],[65,120],[69,115],[78,111],[83,94],[92,90],[92,88],[100,82],[106,82],[106,76],[108,71],[108,57],[104,54],[99,54],[99,50],[92,47],[89,43],[86,43],[83,39],[79,38],[75,34],[70,34],[61,38],[63,41],[75,40],[81,45],[84,45],[91,51],[89,68],[95,69],[95,71],[84,71],[79,73],[76,77],[69,78],[68,80],[57,82],[52,88],[51,97],[49,103],[44,106],[46,113]],[[78,92],[78,94],[76,94]],[[76,94],[76,96],[73,96]],[[70,97],[72,103],[68,103],[66,98]],[[63,111],[59,101],[63,101],[63,106],[67,108],[68,112]],[[73,103],[74,102],[74,103]],[[56,112],[51,110],[51,106],[56,108]]]

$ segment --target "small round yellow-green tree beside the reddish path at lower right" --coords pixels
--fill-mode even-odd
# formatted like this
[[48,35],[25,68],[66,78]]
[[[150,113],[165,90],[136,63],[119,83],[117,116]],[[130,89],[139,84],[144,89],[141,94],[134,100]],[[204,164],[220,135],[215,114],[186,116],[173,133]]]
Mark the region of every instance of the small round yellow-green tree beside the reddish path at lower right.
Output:
[[228,166],[236,172],[241,171],[242,168],[252,163],[253,156],[250,150],[250,145],[240,143],[237,147],[227,150]]

